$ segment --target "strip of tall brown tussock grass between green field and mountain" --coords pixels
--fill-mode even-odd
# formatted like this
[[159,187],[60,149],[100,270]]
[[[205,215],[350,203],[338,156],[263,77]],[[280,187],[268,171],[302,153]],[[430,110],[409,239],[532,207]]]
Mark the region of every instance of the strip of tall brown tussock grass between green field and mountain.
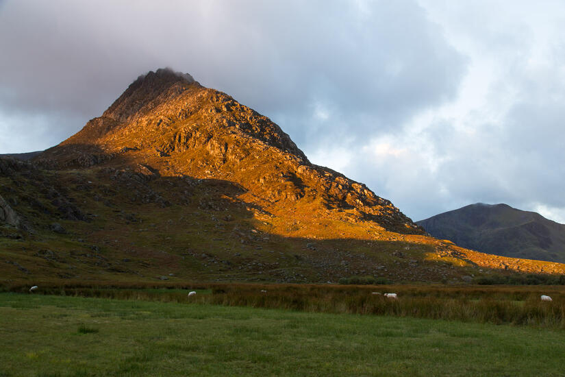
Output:
[[[197,295],[188,297],[192,290]],[[399,300],[373,292],[394,292]],[[37,293],[565,328],[565,289],[560,286],[177,284],[168,288],[42,287]],[[541,302],[542,294],[551,295],[553,302]],[[19,305],[25,310],[34,304]]]

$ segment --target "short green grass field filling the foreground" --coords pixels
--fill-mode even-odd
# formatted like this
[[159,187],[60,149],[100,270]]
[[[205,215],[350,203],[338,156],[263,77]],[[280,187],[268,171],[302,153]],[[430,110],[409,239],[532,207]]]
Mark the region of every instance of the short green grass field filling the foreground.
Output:
[[0,376],[562,376],[564,332],[0,294]]

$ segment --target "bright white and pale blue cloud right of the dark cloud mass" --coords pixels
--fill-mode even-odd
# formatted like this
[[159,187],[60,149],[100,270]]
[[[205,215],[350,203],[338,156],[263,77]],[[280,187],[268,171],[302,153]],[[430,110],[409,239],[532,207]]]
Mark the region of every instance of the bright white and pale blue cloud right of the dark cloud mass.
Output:
[[[437,1],[421,2],[438,6]],[[491,4],[507,17],[499,19],[487,6]],[[408,127],[390,130],[392,142],[407,148],[406,154],[380,156],[375,166],[368,162],[377,160],[375,156],[359,154],[346,169],[364,175],[368,186],[414,219],[486,202],[545,208],[565,222],[565,40],[559,33],[562,23],[551,20],[563,7],[544,3],[534,11],[527,2],[508,6],[488,1],[438,7],[439,13],[453,11],[439,17],[447,20],[442,25],[459,34],[452,35],[451,42],[466,45],[462,51],[472,46],[473,60],[490,60],[494,67],[486,104],[454,119],[438,112],[416,135],[407,136]],[[536,21],[536,14],[547,17]],[[544,27],[545,34],[540,31]],[[421,143],[414,146],[415,139]],[[432,162],[424,150],[433,156]]]

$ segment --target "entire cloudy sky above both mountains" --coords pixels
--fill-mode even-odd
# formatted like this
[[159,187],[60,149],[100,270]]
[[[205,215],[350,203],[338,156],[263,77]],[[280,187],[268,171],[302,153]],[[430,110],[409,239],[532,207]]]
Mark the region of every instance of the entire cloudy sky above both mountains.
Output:
[[565,223],[565,2],[0,0],[0,154],[58,144],[171,66],[414,220]]

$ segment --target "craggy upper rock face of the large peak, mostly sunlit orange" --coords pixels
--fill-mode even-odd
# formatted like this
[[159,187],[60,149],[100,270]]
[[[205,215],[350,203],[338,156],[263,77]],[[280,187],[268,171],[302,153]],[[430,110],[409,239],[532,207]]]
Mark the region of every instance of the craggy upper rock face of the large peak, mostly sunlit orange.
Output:
[[36,160],[53,167],[121,169],[142,160],[164,176],[235,182],[270,212],[316,202],[310,215],[423,234],[364,184],[310,163],[267,117],[169,69],[140,76],[101,117]]

